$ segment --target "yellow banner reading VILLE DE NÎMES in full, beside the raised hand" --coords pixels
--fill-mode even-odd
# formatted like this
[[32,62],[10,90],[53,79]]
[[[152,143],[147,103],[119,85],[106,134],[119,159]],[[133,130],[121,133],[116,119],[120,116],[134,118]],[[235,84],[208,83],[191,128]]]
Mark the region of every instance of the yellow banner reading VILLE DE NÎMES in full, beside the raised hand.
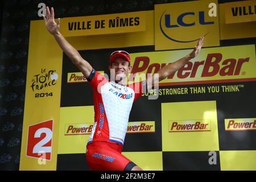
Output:
[[120,34],[146,30],[146,11],[63,18],[64,36]]

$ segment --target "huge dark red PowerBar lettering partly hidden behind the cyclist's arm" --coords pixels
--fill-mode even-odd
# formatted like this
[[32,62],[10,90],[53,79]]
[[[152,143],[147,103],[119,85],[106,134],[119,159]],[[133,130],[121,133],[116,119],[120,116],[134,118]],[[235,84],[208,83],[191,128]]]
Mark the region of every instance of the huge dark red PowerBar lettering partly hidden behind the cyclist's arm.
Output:
[[[242,77],[241,70],[246,64],[253,65],[253,63],[250,63],[253,62],[250,61],[250,57],[241,57],[239,59],[230,57],[225,60],[223,57],[224,55],[222,55],[222,53],[208,53],[206,59],[203,61],[188,61],[188,63],[177,72],[172,73],[167,77],[167,80],[170,81],[170,83],[165,83],[165,85],[172,85],[174,84],[172,83],[173,81],[183,82],[185,79],[193,79],[193,81],[206,80],[206,82],[212,82],[214,79],[226,80],[227,78],[234,78],[234,76],[236,76],[236,78],[246,78],[244,76]],[[154,60],[150,60],[150,57],[147,56],[135,57],[129,81],[135,80],[136,73],[143,72],[146,73],[146,75],[153,74],[168,64],[152,63],[152,61]]]

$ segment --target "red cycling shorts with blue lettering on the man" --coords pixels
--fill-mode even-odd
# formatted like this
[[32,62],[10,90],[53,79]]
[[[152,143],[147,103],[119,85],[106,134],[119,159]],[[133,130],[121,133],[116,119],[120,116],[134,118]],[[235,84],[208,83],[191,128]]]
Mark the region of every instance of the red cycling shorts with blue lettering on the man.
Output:
[[87,144],[86,161],[93,171],[130,171],[137,166],[122,155],[122,145],[114,142]]

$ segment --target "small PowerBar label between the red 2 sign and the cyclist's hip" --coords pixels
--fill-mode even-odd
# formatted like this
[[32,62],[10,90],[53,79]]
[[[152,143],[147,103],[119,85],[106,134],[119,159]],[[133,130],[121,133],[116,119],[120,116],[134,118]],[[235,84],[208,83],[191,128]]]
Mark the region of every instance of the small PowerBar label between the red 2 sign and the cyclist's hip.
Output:
[[92,132],[92,124],[68,124],[65,125],[64,135],[89,135]]

